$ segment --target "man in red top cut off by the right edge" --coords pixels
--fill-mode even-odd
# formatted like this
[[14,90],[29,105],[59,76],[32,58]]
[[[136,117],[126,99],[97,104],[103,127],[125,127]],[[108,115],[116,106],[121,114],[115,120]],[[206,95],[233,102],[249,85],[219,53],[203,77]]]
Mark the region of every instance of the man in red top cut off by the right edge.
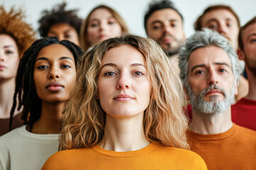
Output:
[[238,55],[245,61],[249,94],[232,106],[232,120],[256,130],[256,16],[240,29]]

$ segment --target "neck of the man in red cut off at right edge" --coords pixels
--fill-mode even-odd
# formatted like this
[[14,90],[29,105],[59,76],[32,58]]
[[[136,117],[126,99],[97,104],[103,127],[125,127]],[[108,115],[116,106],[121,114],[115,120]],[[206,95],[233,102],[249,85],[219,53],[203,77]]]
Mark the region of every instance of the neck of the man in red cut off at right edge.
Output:
[[245,98],[256,101],[256,77],[255,74],[250,71],[250,69],[246,68],[247,78],[249,82],[249,93]]

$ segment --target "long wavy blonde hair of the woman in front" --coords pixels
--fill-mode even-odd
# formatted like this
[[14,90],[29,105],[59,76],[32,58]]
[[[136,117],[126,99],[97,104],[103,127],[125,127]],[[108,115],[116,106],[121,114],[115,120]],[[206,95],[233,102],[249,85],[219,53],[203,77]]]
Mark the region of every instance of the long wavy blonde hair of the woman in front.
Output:
[[65,108],[60,150],[92,147],[102,141],[105,112],[97,99],[97,77],[102,57],[120,45],[131,45],[145,57],[151,81],[151,98],[144,111],[144,134],[150,142],[188,149],[188,120],[183,111],[185,95],[181,80],[161,47],[149,38],[124,34],[100,42],[88,51],[78,66],[77,84]]

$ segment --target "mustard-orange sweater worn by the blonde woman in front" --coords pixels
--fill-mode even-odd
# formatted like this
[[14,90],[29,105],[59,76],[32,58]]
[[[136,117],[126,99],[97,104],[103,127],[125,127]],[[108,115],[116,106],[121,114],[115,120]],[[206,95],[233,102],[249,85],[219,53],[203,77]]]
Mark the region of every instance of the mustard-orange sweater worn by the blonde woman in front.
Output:
[[207,169],[194,152],[151,143],[130,152],[114,152],[94,147],[64,150],[53,154],[46,169]]

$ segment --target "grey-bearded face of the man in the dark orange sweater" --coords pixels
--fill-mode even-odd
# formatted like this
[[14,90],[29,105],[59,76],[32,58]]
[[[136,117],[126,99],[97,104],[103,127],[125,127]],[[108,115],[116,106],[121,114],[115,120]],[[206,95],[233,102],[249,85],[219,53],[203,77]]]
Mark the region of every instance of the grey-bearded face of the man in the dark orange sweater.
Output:
[[200,47],[188,59],[186,89],[197,113],[220,114],[227,111],[237,94],[228,54],[214,45]]

